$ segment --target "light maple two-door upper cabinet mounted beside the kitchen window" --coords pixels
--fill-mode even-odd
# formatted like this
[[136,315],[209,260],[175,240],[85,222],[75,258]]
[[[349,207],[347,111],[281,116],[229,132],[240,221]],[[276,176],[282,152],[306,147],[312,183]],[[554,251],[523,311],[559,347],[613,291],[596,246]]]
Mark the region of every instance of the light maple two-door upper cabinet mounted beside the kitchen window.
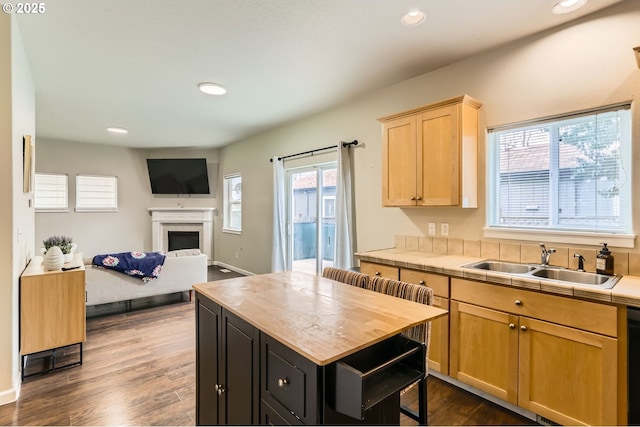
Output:
[[478,207],[478,109],[468,95],[378,119],[382,205]]

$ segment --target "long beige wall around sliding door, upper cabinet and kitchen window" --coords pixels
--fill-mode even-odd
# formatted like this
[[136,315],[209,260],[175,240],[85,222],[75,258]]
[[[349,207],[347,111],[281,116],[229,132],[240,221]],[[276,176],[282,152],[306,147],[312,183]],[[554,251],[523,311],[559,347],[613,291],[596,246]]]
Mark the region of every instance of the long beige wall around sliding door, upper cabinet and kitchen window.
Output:
[[[272,218],[268,158],[352,139],[365,145],[354,154],[358,250],[392,247],[395,234],[427,235],[428,222],[448,222],[454,238],[482,239],[486,209],[482,130],[636,99],[640,70],[632,48],[640,45],[639,22],[640,2],[623,2],[570,26],[470,57],[224,147],[221,174],[243,175],[243,234],[225,234],[217,228],[216,259],[255,273],[268,272]],[[483,102],[478,209],[383,208],[381,126],[376,118],[464,93]],[[640,110],[635,105],[633,123],[633,160],[640,164]],[[632,182],[638,182],[640,168],[634,168],[633,174]],[[633,191],[634,199],[640,200],[640,188]],[[634,229],[640,230],[640,204],[633,213]]]

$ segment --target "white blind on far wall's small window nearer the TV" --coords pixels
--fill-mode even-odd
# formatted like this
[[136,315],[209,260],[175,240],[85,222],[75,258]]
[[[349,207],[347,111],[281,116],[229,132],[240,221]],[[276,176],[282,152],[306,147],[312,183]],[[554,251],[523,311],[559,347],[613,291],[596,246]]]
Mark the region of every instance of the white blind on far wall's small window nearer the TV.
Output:
[[118,178],[76,175],[76,212],[118,210]]

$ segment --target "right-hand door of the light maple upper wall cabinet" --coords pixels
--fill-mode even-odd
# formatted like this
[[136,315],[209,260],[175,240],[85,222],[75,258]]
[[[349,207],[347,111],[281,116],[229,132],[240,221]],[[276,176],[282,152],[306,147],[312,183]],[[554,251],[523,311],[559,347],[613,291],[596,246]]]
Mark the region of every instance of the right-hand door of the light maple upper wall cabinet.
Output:
[[458,107],[426,111],[418,121],[418,205],[456,206],[460,198]]

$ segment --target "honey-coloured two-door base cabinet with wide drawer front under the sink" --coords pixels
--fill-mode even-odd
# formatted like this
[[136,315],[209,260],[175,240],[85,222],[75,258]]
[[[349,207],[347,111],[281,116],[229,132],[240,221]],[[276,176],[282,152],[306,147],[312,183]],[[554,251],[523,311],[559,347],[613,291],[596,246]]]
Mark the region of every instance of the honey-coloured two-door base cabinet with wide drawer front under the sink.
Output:
[[451,279],[450,371],[563,425],[624,424],[618,308]]

